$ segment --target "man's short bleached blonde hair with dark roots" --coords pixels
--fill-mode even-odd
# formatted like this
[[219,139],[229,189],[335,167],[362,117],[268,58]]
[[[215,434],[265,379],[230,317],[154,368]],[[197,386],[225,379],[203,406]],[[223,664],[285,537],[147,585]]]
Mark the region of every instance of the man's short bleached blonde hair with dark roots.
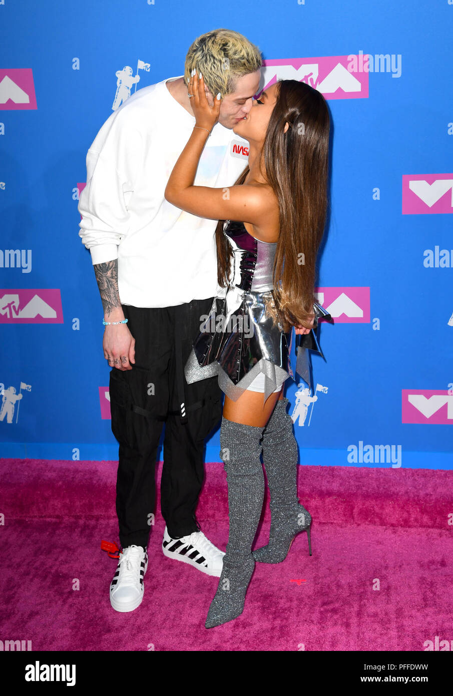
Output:
[[202,73],[212,95],[222,98],[236,89],[237,80],[262,64],[260,49],[245,36],[230,29],[214,29],[198,36],[186,55],[184,79],[189,84],[191,71]]

